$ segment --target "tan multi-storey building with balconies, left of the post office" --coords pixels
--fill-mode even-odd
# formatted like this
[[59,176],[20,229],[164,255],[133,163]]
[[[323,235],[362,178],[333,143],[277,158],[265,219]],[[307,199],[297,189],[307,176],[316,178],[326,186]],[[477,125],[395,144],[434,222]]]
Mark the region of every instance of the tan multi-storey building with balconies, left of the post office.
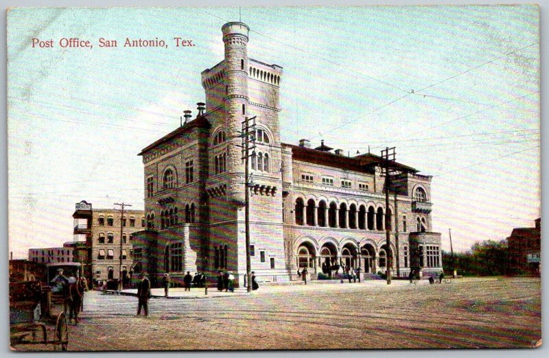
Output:
[[127,280],[132,268],[131,235],[143,230],[143,211],[124,210],[124,221],[121,222],[119,210],[92,208],[83,200],[76,204],[73,218],[75,239],[65,245],[75,250],[74,256],[78,259],[75,261],[82,263],[84,275],[93,283],[119,278],[122,254],[122,278]]

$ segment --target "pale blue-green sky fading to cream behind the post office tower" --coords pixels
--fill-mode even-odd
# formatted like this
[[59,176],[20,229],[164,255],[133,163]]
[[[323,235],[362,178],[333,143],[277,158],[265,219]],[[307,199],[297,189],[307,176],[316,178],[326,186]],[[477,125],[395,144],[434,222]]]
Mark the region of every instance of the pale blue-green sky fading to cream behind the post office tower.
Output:
[[[8,232],[14,258],[73,240],[75,203],[143,208],[137,154],[205,99],[238,8],[8,13]],[[431,175],[449,250],[540,216],[539,13],[518,6],[242,8],[248,56],[283,67],[285,143],[355,155],[395,146]],[[176,47],[173,38],[194,47]],[[32,47],[32,38],[54,47]],[[93,47],[62,48],[61,38]],[[101,48],[99,39],[119,47]],[[126,38],[165,47],[122,47]]]

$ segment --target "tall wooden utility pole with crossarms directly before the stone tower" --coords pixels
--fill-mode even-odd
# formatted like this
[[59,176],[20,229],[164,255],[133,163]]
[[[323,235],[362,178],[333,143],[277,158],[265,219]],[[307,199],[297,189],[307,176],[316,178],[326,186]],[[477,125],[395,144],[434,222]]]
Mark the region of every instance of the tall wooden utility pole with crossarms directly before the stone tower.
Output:
[[[250,156],[255,156],[255,116],[244,117],[242,121],[242,160],[244,160],[244,220],[246,230],[246,282],[248,292],[252,291],[252,258],[250,256]],[[252,146],[250,147],[250,142]],[[250,150],[252,153],[250,154]]]

